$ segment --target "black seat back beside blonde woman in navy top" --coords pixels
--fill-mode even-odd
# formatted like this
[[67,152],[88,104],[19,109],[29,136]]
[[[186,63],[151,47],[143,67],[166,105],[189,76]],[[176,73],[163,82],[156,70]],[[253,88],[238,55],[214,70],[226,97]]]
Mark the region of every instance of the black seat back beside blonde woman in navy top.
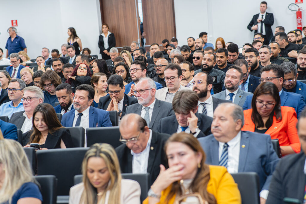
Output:
[[34,176],[40,185],[43,204],[56,204],[57,179],[54,175]]

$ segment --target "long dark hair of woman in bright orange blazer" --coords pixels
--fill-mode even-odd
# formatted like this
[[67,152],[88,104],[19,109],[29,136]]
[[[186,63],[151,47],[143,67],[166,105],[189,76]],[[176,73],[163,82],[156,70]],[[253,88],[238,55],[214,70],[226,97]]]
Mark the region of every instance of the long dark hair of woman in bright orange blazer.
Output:
[[272,82],[263,82],[258,85],[258,87],[255,89],[253,98],[252,98],[252,115],[251,119],[253,123],[255,124],[256,128],[262,128],[265,126],[263,123],[263,119],[259,115],[257,108],[256,108],[256,100],[257,97],[263,94],[271,95],[275,100],[274,109],[272,110],[269,119],[266,122],[266,128],[269,129],[273,123],[273,116],[275,114],[276,120],[281,121],[282,120],[282,112],[281,112],[281,99],[279,97],[278,88],[276,85]]

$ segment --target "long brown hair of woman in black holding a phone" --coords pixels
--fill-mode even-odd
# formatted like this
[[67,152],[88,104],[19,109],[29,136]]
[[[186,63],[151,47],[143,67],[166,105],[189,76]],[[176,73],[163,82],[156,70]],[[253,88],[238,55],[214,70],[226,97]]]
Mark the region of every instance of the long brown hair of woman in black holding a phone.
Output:
[[39,143],[39,140],[41,138],[41,132],[35,127],[34,120],[35,120],[35,114],[37,112],[40,112],[43,114],[43,120],[45,121],[46,125],[49,128],[49,132],[53,133],[54,131],[63,128],[62,124],[58,120],[58,117],[55,113],[55,110],[53,106],[51,106],[48,103],[40,103],[36,106],[33,112],[32,117],[32,124],[33,124],[33,133],[30,136],[30,142],[29,143]]

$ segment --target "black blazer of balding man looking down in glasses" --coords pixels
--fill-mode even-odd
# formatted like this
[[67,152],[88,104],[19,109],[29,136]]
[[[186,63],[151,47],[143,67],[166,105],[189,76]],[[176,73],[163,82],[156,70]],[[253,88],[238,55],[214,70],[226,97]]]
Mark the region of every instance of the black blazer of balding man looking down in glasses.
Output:
[[[168,134],[161,134],[152,131],[147,167],[147,172],[150,173],[150,186],[154,183],[159,175],[159,165],[162,164],[166,168],[168,167],[164,146],[169,137],[170,135]],[[125,144],[122,144],[116,148],[116,153],[119,159],[121,173],[132,173],[133,156],[131,154],[131,150]]]

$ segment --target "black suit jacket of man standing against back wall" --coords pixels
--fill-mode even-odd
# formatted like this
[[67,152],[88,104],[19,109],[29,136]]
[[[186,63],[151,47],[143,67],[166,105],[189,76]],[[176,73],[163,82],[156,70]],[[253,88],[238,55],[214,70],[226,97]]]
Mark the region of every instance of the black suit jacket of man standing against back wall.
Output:
[[[252,26],[257,25],[257,19],[259,18],[259,13],[255,14],[248,24],[248,29],[252,32]],[[266,13],[265,19],[263,20],[263,23],[265,24],[265,31],[266,31],[266,38],[265,40],[269,41],[273,37],[273,32],[271,26],[274,24],[274,17],[273,13]],[[260,32],[258,30],[255,30],[254,34]]]

